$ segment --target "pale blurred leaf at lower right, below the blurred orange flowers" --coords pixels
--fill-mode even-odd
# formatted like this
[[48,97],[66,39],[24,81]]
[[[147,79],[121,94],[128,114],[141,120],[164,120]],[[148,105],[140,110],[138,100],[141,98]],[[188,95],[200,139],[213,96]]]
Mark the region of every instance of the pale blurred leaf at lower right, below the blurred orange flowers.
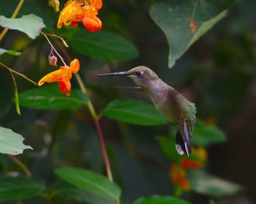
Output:
[[242,190],[239,184],[209,175],[201,170],[189,171],[189,185],[197,193],[214,197],[229,196]]

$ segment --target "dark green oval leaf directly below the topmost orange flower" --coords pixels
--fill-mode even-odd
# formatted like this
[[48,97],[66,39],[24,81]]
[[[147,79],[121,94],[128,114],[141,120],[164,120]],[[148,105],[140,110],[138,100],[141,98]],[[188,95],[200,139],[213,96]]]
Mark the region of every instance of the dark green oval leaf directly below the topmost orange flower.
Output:
[[67,34],[68,45],[75,51],[100,60],[130,60],[138,57],[132,42],[112,32],[91,33],[85,29]]

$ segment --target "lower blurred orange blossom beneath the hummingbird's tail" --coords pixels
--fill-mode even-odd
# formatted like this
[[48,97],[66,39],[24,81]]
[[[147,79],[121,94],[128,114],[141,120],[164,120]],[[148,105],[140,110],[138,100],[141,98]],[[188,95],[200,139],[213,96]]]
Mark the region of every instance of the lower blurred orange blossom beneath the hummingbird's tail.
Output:
[[180,165],[173,164],[170,166],[170,178],[173,184],[181,187],[183,190],[188,191],[190,189],[186,170],[180,167]]

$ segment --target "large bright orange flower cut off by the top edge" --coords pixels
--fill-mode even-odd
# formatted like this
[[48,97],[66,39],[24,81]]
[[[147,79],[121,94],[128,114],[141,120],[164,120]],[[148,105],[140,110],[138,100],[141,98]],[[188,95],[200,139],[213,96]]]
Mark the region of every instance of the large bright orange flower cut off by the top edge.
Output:
[[57,27],[60,29],[63,23],[65,26],[72,24],[76,27],[79,22],[83,22],[83,26],[90,32],[100,30],[102,23],[97,15],[101,7],[101,0],[87,0],[86,3],[68,1],[58,17]]

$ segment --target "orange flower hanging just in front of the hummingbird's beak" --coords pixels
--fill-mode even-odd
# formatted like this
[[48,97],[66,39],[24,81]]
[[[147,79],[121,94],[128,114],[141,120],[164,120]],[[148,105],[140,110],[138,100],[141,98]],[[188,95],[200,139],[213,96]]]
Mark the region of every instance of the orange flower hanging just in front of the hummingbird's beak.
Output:
[[80,69],[79,60],[74,59],[70,66],[61,66],[59,70],[56,70],[52,73],[48,73],[38,82],[38,85],[41,86],[45,82],[52,83],[58,82],[58,87],[61,90],[61,93],[66,93],[67,96],[70,95],[70,79],[72,77],[72,73],[77,73]]

